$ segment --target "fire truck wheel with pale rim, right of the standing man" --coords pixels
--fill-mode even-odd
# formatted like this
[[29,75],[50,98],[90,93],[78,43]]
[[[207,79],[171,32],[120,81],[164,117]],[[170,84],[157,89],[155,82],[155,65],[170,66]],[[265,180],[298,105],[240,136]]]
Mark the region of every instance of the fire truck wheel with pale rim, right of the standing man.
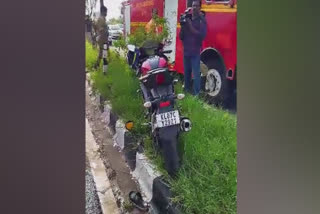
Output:
[[210,68],[205,76],[204,90],[210,103],[223,105],[226,99],[225,75],[215,68]]

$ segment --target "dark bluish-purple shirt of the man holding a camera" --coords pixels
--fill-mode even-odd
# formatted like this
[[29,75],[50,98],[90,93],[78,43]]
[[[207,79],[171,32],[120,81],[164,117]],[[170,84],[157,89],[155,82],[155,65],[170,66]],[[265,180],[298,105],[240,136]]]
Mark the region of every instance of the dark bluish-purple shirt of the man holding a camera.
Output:
[[197,56],[200,55],[200,49],[202,41],[207,34],[207,22],[204,17],[197,17],[192,20],[192,26],[200,32],[200,34],[194,34],[185,23],[181,26],[180,39],[183,43],[183,53],[185,56]]

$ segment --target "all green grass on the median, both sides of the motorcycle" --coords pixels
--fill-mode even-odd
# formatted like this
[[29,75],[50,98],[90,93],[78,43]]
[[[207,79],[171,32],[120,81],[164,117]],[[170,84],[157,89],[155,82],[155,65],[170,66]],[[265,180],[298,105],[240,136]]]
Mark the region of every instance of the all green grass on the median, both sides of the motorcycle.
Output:
[[[92,72],[95,88],[111,102],[112,109],[124,120],[135,122],[135,134],[144,136],[147,156],[166,174],[162,157],[152,149],[144,119],[142,98],[136,92],[139,83],[123,58],[110,53],[106,76],[101,68]],[[86,66],[92,70],[96,50],[86,43]],[[181,85],[176,86],[182,91]],[[236,213],[237,164],[236,117],[187,95],[179,101],[184,116],[192,121],[192,130],[181,134],[183,165],[179,176],[170,180],[173,200],[183,213]]]

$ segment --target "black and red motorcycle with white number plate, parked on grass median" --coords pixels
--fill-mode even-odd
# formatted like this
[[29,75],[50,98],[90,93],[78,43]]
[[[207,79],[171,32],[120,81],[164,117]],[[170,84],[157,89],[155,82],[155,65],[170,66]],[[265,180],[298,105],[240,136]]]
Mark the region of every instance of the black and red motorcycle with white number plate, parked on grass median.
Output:
[[[176,107],[176,100],[183,99],[184,94],[176,95],[174,92],[175,80],[169,71],[168,59],[164,56],[171,51],[163,51],[159,46],[147,48],[149,50],[134,46],[128,49],[127,59],[139,77],[143,106],[148,109],[153,143],[164,157],[168,174],[175,176],[180,167],[179,134],[191,130],[191,121],[182,117]],[[135,60],[132,60],[134,54]]]

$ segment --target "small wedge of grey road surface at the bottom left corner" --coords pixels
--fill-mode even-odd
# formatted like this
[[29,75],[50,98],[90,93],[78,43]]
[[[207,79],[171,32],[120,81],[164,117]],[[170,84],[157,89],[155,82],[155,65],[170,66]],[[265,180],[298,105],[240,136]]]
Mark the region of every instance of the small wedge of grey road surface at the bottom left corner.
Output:
[[86,214],[102,214],[96,186],[90,169],[86,169]]

